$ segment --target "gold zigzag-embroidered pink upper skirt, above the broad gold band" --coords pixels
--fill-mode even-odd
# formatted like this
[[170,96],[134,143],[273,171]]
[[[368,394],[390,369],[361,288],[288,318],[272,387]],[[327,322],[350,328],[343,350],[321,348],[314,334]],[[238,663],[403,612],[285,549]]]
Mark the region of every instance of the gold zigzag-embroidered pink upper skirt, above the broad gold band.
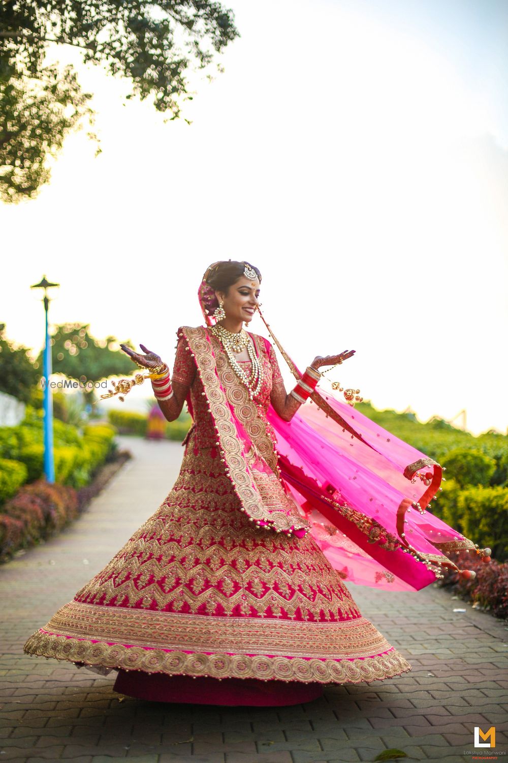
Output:
[[261,534],[238,510],[220,459],[196,456],[192,437],[165,503],[75,599],[207,615],[359,617],[312,536]]

